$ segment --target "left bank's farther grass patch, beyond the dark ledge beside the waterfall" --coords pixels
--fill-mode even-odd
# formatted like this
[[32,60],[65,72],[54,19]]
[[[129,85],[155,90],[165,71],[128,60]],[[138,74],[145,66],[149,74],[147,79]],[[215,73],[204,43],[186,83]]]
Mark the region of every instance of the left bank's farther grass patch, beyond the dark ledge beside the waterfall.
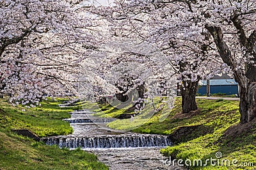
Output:
[[[59,100],[60,101],[60,100]],[[72,108],[60,108],[58,102],[41,102],[41,106],[27,109],[13,107],[5,100],[0,102],[0,126],[2,128],[27,128],[38,137],[67,135],[73,132],[69,123],[61,121],[70,118]],[[26,111],[22,111],[25,109]]]

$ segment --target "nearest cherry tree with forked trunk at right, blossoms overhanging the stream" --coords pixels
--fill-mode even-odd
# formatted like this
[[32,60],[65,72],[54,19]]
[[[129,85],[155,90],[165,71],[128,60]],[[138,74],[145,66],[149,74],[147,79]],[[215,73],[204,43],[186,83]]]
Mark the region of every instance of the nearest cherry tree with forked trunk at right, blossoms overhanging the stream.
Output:
[[[129,36],[138,35],[141,38],[152,38],[152,35],[156,35],[159,32],[163,33],[165,37],[159,38],[159,35],[157,35],[155,39],[160,39],[159,42],[166,40],[166,43],[168,43],[169,41],[170,46],[177,45],[177,37],[179,38],[178,42],[184,40],[184,42],[181,41],[183,43],[180,46],[182,49],[186,49],[186,46],[191,48],[188,51],[186,50],[187,52],[194,49],[202,50],[202,47],[211,48],[213,50],[212,54],[207,55],[205,59],[216,56],[216,52],[218,52],[218,56],[225,63],[224,69],[230,68],[232,70],[234,78],[241,88],[239,104],[241,123],[247,123],[255,118],[256,4],[253,0],[137,0],[116,1],[116,4],[113,11],[117,15],[108,15],[107,17],[115,17],[114,25],[118,20],[121,20],[121,24],[118,24],[117,27],[122,31],[118,33],[125,33]],[[145,22],[145,19],[147,22]],[[151,22],[148,22],[148,20]],[[162,20],[164,22],[161,22]],[[137,24],[140,22],[141,24]],[[157,27],[159,26],[160,28],[152,29],[150,26],[156,27],[154,23],[157,23]],[[174,31],[175,36],[169,37],[164,34],[168,31]],[[183,38],[180,39],[180,35]],[[172,38],[175,38],[175,41],[173,41],[175,43],[170,41]],[[195,45],[191,43],[191,40],[196,42]],[[205,41],[208,42],[205,43]],[[212,44],[212,42],[214,43]],[[195,54],[202,54],[200,50],[195,50]],[[203,54],[204,51],[202,50]],[[203,60],[199,59],[199,61]],[[185,63],[186,61],[187,59],[184,58]],[[203,65],[197,66],[200,68]],[[215,64],[210,64],[207,70],[214,66]],[[225,66],[228,67],[225,68]],[[217,66],[217,68],[220,68],[220,66]],[[191,73],[188,68],[186,70]],[[199,70],[198,73],[205,75]]]

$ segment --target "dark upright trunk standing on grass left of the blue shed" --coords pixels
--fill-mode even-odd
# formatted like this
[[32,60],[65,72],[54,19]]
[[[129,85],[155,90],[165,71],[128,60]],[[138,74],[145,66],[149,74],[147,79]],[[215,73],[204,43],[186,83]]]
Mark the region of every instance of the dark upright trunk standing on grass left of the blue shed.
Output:
[[[188,86],[186,86],[188,85]],[[184,88],[181,87],[180,94],[182,97],[182,113],[188,113],[197,109],[196,105],[196,91],[198,88],[198,81],[184,82]]]

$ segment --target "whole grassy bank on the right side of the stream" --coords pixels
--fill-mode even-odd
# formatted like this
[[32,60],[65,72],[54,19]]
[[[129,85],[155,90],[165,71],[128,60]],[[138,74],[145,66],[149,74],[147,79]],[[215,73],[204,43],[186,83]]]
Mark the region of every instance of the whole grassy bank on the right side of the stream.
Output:
[[[183,160],[184,165],[188,160],[188,166],[185,165],[188,169],[256,169],[256,123],[252,121],[244,125],[239,124],[239,102],[223,99],[197,99],[196,102],[198,111],[181,114],[181,101],[177,98],[175,107],[172,111],[169,110],[170,114],[161,122],[159,118],[162,112],[159,111],[151,118],[144,115],[138,120],[116,120],[108,125],[111,128],[129,129],[134,124],[140,124],[141,126],[131,131],[171,135],[173,146],[162,149],[161,153],[172,160],[176,159],[176,165],[179,159]],[[102,108],[105,114],[98,114],[104,117],[125,112],[109,105]],[[222,153],[221,158],[216,158],[218,151]],[[214,166],[211,166],[209,161],[211,158],[216,159]],[[198,159],[202,160],[203,166],[196,162]],[[232,161],[235,161],[234,164]]]

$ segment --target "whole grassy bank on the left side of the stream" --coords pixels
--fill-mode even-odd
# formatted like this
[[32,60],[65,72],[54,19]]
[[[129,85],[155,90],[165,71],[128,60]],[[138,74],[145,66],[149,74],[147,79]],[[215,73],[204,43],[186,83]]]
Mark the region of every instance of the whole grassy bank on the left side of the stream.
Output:
[[61,120],[70,118],[68,112],[74,108],[58,107],[62,101],[44,101],[41,106],[27,109],[0,100],[0,169],[108,169],[95,155],[79,148],[70,151],[47,146],[11,132],[27,128],[38,137],[71,134],[72,127]]

